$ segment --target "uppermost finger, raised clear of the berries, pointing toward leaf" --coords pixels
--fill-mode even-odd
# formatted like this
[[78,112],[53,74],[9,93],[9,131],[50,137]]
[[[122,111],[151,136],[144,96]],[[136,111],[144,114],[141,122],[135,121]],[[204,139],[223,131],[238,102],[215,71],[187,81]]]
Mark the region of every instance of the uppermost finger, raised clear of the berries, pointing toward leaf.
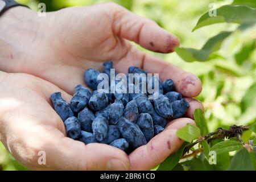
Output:
[[154,21],[135,15],[121,6],[113,6],[113,32],[155,52],[173,52],[179,39]]

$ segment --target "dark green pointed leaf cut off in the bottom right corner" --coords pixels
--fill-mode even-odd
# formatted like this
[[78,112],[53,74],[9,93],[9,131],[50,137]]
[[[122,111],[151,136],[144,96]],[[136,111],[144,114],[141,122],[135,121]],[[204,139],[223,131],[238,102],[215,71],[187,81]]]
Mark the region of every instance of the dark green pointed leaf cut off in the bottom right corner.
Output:
[[231,160],[229,171],[254,171],[249,152],[242,147]]

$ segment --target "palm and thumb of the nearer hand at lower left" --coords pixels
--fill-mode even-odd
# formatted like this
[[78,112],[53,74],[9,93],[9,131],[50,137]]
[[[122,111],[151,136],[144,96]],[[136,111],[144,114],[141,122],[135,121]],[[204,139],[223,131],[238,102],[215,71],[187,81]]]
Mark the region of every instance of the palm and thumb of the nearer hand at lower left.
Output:
[[[33,170],[125,170],[125,152],[106,144],[88,144],[65,136],[64,123],[52,109],[49,95],[61,92],[40,78],[0,72],[0,139],[10,154]],[[46,165],[38,163],[39,151]]]

